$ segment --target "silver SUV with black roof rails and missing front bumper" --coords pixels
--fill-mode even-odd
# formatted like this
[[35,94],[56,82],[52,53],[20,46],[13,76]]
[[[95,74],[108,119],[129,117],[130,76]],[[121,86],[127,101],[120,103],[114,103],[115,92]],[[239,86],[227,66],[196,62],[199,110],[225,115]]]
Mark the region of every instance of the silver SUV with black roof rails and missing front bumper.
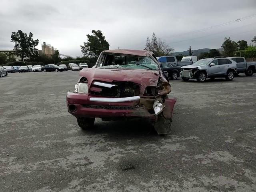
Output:
[[236,62],[229,58],[206,58],[181,69],[180,76],[184,81],[196,79],[198,82],[204,82],[206,78],[214,80],[216,77],[225,77],[231,81],[236,72]]

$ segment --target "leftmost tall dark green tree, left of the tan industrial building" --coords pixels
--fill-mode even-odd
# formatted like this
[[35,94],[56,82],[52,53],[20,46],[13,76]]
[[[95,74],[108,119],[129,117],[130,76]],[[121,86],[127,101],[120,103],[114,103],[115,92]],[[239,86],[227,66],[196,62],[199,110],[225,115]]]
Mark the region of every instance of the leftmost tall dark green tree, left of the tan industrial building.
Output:
[[11,42],[14,42],[14,54],[20,56],[21,61],[24,57],[32,58],[38,55],[38,49],[35,47],[38,45],[38,39],[33,39],[33,34],[29,32],[27,36],[22,30],[18,32],[12,32]]

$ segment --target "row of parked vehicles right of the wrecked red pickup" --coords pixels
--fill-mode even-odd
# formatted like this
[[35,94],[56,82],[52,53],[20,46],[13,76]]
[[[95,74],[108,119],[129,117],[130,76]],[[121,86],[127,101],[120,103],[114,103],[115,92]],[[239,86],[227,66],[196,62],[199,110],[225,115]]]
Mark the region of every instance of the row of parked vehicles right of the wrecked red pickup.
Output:
[[198,82],[204,82],[206,78],[214,80],[223,77],[226,80],[233,80],[239,73],[252,76],[256,72],[256,62],[246,62],[244,57],[204,58],[182,67],[167,62],[159,64],[164,72],[168,72],[169,78],[175,80],[180,76],[184,81],[196,79]]

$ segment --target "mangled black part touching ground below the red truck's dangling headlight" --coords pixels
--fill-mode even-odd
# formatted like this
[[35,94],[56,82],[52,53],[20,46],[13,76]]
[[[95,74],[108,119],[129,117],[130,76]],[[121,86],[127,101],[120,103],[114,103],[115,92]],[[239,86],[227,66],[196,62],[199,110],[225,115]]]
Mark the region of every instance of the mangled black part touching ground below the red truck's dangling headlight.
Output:
[[157,121],[154,122],[153,126],[157,134],[169,134],[171,133],[171,119],[164,118],[163,114],[160,113],[157,116]]

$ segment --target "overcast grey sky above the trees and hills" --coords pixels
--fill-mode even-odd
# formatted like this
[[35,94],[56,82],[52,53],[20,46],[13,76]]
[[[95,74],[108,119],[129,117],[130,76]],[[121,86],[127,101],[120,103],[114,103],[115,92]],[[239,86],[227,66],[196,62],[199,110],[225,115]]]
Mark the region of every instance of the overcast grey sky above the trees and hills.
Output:
[[[32,32],[39,50],[46,42],[70,56],[82,56],[80,45],[92,30],[102,30],[110,49],[143,49],[155,32],[176,52],[220,48],[224,37],[251,43],[256,36],[256,15],[247,18],[256,14],[256,0],[0,1],[0,49],[14,47],[10,36],[18,30]],[[238,18],[247,19],[232,22]]]

